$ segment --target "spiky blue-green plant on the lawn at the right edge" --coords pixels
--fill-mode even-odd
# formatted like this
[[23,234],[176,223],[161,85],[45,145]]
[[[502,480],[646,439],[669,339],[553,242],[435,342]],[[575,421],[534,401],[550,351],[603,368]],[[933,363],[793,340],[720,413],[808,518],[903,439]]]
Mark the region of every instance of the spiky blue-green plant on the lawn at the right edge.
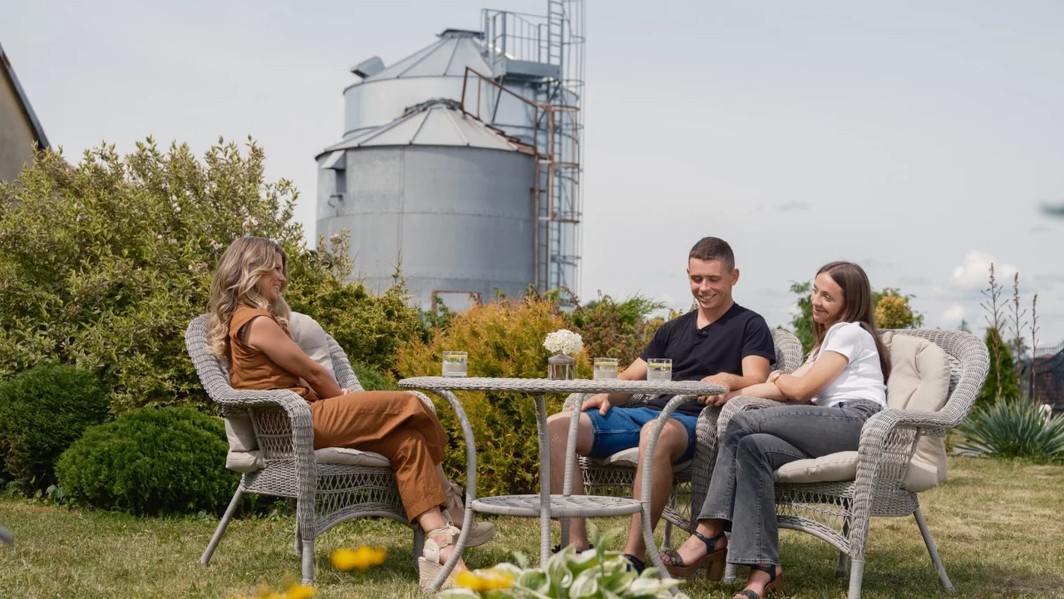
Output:
[[1064,416],[1048,418],[1026,400],[978,408],[958,428],[957,447],[992,457],[1064,459]]

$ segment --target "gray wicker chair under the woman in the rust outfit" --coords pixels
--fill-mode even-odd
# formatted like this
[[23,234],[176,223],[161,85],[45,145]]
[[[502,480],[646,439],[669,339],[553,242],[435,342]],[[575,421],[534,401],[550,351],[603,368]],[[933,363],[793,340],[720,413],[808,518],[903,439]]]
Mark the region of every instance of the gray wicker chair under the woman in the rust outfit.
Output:
[[[230,386],[229,376],[207,349],[209,318],[202,314],[188,325],[185,331],[188,356],[200,383],[220,406],[222,415],[250,416],[265,468],[240,476],[240,484],[200,563],[204,566],[211,563],[211,555],[246,492],[296,499],[295,550],[302,554],[304,583],[314,582],[314,539],[332,527],[365,517],[390,518],[411,525],[390,468],[316,463],[311,408],[302,398],[293,391],[235,390]],[[328,341],[339,386],[362,391],[344,350],[332,337]],[[432,406],[423,394],[414,394]],[[412,528],[416,565],[425,533],[420,527]]]

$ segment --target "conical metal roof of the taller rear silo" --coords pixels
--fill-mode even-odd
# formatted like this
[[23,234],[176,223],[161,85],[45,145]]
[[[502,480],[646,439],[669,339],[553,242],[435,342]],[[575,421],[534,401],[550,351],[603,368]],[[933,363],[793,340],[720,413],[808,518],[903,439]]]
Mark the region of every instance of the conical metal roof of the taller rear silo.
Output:
[[363,83],[406,77],[463,77],[467,66],[489,74],[492,67],[482,54],[482,37],[479,31],[445,30],[432,45],[367,77]]

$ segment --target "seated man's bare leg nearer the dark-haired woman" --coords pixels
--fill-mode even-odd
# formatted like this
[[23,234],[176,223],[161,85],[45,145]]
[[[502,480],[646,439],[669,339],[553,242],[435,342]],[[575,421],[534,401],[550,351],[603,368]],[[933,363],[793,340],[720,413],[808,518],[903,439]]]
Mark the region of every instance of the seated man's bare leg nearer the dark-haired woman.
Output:
[[[651,420],[643,426],[643,433],[639,436],[639,463],[635,469],[635,485],[632,488],[632,497],[635,499],[643,497],[643,452],[653,427],[654,421]],[[658,438],[653,466],[651,466],[651,529],[658,525],[658,520],[661,519],[662,512],[665,511],[665,504],[668,503],[668,496],[672,492],[672,463],[683,457],[683,452],[686,449],[687,430],[679,421],[669,419]],[[632,516],[632,524],[628,530],[625,553],[643,560],[646,552],[647,548],[643,543],[643,516],[635,514]]]

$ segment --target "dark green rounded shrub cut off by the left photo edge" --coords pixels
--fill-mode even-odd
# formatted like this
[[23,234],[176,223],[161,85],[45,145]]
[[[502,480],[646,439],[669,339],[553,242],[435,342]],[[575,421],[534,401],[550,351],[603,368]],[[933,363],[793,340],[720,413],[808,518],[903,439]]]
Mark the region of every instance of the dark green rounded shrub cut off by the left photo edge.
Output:
[[55,482],[55,460],[107,417],[107,389],[92,372],[38,366],[0,382],[0,464],[26,493]]

